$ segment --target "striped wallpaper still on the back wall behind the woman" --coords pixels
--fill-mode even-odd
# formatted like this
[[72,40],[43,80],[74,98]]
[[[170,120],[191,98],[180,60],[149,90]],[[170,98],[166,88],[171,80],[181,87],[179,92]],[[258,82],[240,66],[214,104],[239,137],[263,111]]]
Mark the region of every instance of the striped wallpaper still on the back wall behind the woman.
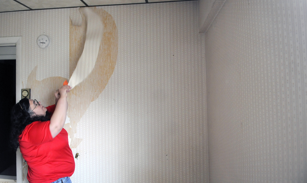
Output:
[[[70,10],[0,13],[0,36],[23,36],[25,86],[36,66],[38,81],[69,77]],[[84,115],[76,125],[75,137],[82,140],[72,148],[80,154],[72,181],[207,182],[204,35],[198,34],[197,2],[103,10],[118,29],[117,60],[105,89],[88,108],[83,107],[87,101],[74,101]],[[36,22],[46,17],[52,17],[49,29],[37,30]],[[35,45],[43,33],[55,50]],[[36,57],[44,52],[47,60]],[[77,107],[71,104],[70,109]]]

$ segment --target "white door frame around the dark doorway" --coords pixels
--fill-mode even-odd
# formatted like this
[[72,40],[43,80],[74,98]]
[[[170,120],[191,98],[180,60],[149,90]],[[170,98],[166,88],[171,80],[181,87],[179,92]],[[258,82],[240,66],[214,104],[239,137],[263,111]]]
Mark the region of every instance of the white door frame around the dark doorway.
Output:
[[[1,46],[16,45],[16,103],[21,99],[21,38],[22,36],[0,37]],[[23,158],[18,148],[16,152],[16,177],[18,183],[22,183],[22,160]],[[3,180],[0,179],[0,181]]]

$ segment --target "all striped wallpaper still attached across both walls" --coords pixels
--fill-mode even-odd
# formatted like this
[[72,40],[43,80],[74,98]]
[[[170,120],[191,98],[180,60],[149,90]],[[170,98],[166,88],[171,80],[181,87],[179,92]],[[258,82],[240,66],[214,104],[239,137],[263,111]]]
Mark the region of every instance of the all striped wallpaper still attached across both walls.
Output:
[[[306,1],[227,0],[205,35],[197,1],[98,8],[118,58],[78,123],[73,182],[306,182]],[[0,13],[23,87],[35,66],[69,77],[70,10]]]

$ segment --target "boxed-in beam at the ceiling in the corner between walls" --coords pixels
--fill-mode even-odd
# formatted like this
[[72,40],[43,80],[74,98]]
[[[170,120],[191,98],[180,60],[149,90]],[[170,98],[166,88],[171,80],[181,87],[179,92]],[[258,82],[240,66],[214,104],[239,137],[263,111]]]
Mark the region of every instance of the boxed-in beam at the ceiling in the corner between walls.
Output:
[[205,33],[226,0],[199,0],[199,33]]

